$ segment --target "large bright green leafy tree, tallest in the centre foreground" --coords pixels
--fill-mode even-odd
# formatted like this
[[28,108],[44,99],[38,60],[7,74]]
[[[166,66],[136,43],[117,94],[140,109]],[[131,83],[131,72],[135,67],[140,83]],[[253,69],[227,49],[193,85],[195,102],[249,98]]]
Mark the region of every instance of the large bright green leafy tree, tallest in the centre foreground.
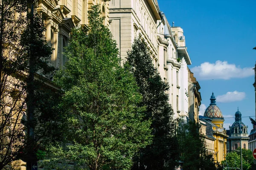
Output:
[[[75,162],[76,169],[130,170],[134,153],[151,142],[151,122],[143,120],[144,108],[137,107],[141,95],[133,75],[119,65],[116,42],[102,24],[99,5],[88,13],[90,30],[72,31],[68,61],[55,77],[64,90],[68,145],[51,147],[48,157]],[[56,158],[55,151],[62,156]]]

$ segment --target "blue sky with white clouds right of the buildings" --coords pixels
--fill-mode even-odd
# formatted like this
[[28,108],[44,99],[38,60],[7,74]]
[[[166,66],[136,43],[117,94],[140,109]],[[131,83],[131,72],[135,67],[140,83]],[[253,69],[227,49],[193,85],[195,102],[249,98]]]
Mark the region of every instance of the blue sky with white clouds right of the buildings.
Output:
[[[212,91],[224,115],[224,127],[243,116],[255,119],[253,88],[256,62],[256,0],[158,0],[170,24],[183,28],[201,89],[201,112]],[[242,122],[253,128],[248,117]]]

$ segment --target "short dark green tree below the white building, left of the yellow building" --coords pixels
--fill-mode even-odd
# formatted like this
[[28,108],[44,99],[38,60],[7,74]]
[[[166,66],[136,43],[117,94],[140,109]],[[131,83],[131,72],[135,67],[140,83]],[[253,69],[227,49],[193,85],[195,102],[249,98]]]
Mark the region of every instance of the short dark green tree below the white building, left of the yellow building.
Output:
[[184,170],[215,170],[212,154],[207,152],[200,125],[181,121],[177,127],[180,161]]

